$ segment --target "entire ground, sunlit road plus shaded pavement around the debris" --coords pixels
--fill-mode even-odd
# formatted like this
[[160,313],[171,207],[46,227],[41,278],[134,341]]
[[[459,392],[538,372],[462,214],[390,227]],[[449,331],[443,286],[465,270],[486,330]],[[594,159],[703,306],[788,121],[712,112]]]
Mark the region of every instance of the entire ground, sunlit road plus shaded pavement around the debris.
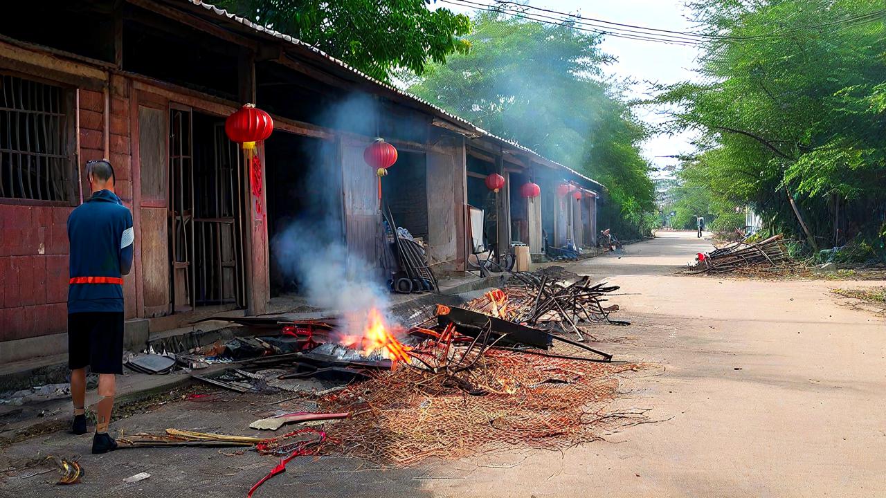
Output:
[[[882,496],[886,495],[886,322],[835,287],[882,281],[758,281],[673,273],[710,248],[695,233],[570,265],[622,286],[618,318],[595,346],[655,362],[626,379],[613,410],[642,424],[563,452],[496,455],[373,470],[348,458],[299,459],[255,494],[290,496]],[[283,397],[283,396],[280,396]],[[115,422],[113,430],[246,427],[273,398],[215,394]],[[638,422],[640,422],[638,420]],[[7,447],[0,471],[44,455],[81,454],[87,477],[53,486],[36,470],[0,477],[0,496],[245,496],[274,466],[213,448],[88,455],[89,436],[56,433]],[[135,484],[138,472],[152,477]]]

